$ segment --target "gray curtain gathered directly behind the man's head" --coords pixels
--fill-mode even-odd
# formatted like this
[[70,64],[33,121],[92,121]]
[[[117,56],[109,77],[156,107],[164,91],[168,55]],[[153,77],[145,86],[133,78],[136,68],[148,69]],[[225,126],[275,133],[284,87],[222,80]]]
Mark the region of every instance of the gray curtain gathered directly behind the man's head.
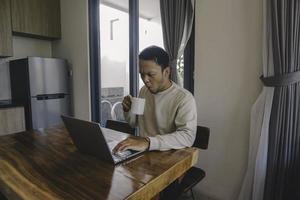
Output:
[[194,19],[194,0],[160,0],[165,50],[170,55],[171,78],[177,82],[177,58],[190,37]]

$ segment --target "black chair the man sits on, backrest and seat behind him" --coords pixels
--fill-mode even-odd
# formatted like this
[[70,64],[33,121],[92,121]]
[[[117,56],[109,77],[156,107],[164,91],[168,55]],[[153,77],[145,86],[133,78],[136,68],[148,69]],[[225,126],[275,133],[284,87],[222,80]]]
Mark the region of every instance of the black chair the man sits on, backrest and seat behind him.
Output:
[[[207,149],[209,140],[209,128],[203,126],[197,126],[196,139],[193,147],[200,149]],[[195,199],[193,193],[193,187],[197,185],[205,177],[205,171],[198,167],[192,167],[189,169],[183,179],[180,182],[180,188],[182,193],[191,191],[192,198]]]

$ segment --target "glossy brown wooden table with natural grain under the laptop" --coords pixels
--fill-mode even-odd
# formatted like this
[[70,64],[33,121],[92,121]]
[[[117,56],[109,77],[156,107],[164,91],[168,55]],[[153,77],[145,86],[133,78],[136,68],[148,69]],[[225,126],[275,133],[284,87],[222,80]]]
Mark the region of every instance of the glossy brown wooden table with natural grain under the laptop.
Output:
[[8,199],[151,199],[193,166],[198,150],[145,154],[113,166],[81,154],[67,131],[0,137],[0,192]]

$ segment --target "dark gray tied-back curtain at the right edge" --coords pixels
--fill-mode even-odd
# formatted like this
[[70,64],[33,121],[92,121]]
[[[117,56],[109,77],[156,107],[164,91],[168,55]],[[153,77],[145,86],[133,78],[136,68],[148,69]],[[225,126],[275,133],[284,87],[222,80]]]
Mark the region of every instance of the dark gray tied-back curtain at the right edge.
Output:
[[265,200],[300,199],[300,0],[268,0],[275,87],[269,127]]

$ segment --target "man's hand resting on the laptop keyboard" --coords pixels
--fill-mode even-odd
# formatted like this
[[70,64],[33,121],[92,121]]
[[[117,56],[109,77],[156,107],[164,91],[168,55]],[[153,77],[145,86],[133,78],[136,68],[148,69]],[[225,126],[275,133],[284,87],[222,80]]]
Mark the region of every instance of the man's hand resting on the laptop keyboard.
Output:
[[125,151],[127,149],[145,151],[149,148],[149,145],[149,139],[147,138],[130,136],[117,144],[113,149],[113,153]]

